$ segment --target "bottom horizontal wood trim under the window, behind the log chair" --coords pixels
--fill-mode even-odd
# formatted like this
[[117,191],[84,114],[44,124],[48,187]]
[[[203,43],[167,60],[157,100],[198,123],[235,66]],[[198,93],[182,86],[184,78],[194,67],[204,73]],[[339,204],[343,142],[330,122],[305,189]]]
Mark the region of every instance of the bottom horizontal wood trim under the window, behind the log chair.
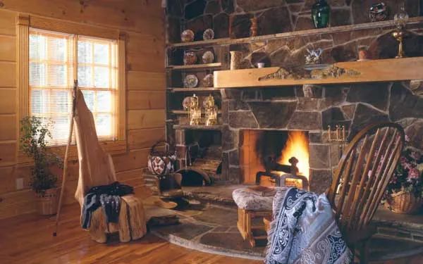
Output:
[[[99,142],[102,149],[109,154],[121,154],[127,152],[126,141],[120,140],[116,142]],[[54,146],[50,150],[60,157],[65,156],[66,146]],[[75,144],[71,145],[69,149],[69,161],[78,160],[78,149]],[[28,158],[24,153],[18,153],[18,164],[19,165],[30,165],[32,164],[32,158]]]

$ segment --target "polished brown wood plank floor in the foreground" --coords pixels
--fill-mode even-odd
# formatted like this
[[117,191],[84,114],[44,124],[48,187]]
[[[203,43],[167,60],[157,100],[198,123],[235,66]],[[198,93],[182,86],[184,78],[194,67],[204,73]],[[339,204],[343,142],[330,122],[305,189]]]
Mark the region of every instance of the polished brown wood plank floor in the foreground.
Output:
[[[192,251],[151,234],[127,244],[118,243],[116,239],[109,244],[97,244],[81,230],[77,206],[66,207],[63,211],[58,237],[51,236],[55,218],[32,214],[0,220],[0,263],[263,263]],[[394,263],[423,262],[421,257],[416,257],[389,262]]]

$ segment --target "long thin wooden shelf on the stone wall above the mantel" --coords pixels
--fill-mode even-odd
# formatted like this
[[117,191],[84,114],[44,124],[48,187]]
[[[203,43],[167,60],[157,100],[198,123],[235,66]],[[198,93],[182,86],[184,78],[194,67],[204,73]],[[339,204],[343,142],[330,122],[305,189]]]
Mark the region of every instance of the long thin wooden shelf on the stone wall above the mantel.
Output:
[[[415,23],[420,23],[423,21],[423,17],[415,17],[410,18],[408,25],[412,25]],[[300,30],[300,31],[293,31],[293,32],[283,32],[278,34],[268,34],[263,36],[257,37],[245,37],[241,39],[211,39],[206,41],[198,41],[198,42],[186,42],[186,43],[177,43],[177,44],[170,44],[168,47],[190,47],[190,46],[204,46],[204,45],[225,45],[225,44],[238,44],[238,43],[245,43],[245,42],[256,42],[261,40],[267,39],[283,39],[286,37],[297,37],[297,36],[306,36],[310,34],[326,34],[326,33],[336,33],[336,32],[343,32],[343,31],[353,31],[353,30],[364,30],[370,28],[379,28],[379,27],[389,27],[395,26],[396,24],[393,20],[387,21],[380,21],[380,22],[372,22],[372,23],[362,23],[357,25],[343,25],[339,27],[326,27],[314,30]]]

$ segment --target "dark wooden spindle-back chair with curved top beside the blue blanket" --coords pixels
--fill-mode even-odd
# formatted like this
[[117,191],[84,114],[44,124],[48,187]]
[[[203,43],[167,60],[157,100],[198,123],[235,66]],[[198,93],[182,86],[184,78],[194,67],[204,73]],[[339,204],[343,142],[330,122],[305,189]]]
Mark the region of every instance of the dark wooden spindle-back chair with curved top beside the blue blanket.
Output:
[[326,193],[341,232],[360,263],[368,263],[368,242],[376,232],[370,221],[404,144],[400,125],[380,122],[365,127],[345,149]]

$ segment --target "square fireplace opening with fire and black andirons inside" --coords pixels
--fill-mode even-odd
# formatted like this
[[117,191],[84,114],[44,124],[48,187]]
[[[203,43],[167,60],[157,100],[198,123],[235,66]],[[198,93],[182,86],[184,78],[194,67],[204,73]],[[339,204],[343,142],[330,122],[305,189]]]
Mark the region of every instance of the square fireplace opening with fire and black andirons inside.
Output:
[[[264,186],[298,186],[302,181],[286,174],[309,178],[308,132],[299,130],[243,130],[240,133],[240,165],[243,182]],[[283,177],[281,177],[283,176]],[[280,182],[280,179],[284,182]]]

